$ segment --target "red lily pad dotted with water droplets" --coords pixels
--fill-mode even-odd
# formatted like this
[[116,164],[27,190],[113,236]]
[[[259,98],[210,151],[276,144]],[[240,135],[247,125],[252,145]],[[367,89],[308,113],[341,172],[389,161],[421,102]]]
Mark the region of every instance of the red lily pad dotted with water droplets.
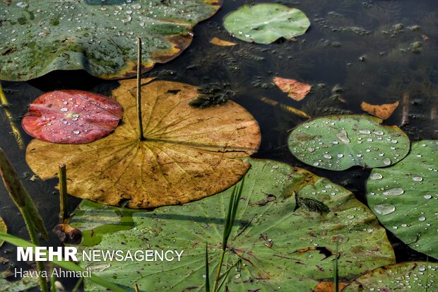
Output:
[[116,129],[123,107],[105,95],[57,90],[30,104],[21,124],[30,136],[59,144],[85,144]]

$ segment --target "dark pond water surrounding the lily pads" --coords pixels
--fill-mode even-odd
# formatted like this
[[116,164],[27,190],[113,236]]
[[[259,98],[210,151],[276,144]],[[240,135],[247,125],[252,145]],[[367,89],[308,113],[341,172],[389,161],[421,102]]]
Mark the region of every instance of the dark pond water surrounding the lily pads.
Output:
[[[286,144],[288,132],[304,122],[302,117],[261,102],[261,97],[296,107],[312,117],[330,114],[363,113],[362,101],[401,105],[385,124],[401,125],[403,94],[409,95],[409,124],[401,127],[411,141],[438,138],[438,3],[419,1],[263,1],[300,8],[312,25],[296,41],[279,40],[256,45],[233,39],[222,26],[223,17],[242,4],[261,1],[225,1],[212,18],[196,25],[194,41],[177,59],[158,64],[144,76],[182,81],[196,86],[218,83],[235,91],[234,100],[245,107],[261,127],[262,142],[256,158],[268,158],[297,165],[328,177],[352,191],[366,203],[365,181],[369,170],[350,168],[329,171],[312,168],[297,160]],[[234,47],[211,45],[219,37],[237,42]],[[293,78],[312,84],[312,92],[300,102],[288,98],[272,83],[273,76]],[[102,81],[85,71],[57,71],[29,82],[2,82],[24,146],[31,140],[20,127],[28,104],[43,92],[81,89],[109,95],[117,81]],[[34,179],[25,163],[25,148],[11,135],[11,125],[0,109],[1,148],[23,177],[50,230],[58,223],[59,202],[56,180]],[[13,235],[27,238],[18,209],[0,184],[0,216]],[[69,198],[73,211],[80,202]],[[398,262],[426,260],[388,231]],[[52,235],[50,242],[57,245]],[[0,257],[16,258],[14,248],[5,244]],[[430,259],[429,260],[434,260]],[[0,266],[0,270],[4,267]]]

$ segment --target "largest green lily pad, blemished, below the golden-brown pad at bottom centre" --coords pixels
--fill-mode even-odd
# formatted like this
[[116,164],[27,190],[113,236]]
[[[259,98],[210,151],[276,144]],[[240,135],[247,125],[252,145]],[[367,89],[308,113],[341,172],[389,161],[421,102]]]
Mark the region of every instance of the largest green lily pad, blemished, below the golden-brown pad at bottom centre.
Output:
[[[333,276],[336,242],[341,277],[355,279],[357,274],[395,262],[384,228],[346,189],[285,163],[246,161],[251,168],[245,176],[223,271],[247,253],[231,270],[227,291],[311,291],[319,279]],[[184,253],[180,262],[83,260],[80,265],[100,276],[114,277],[117,284],[136,283],[145,291],[205,291],[206,243],[213,281],[231,192],[232,188],[197,202],[148,212],[84,200],[71,222],[83,231],[80,253]],[[85,289],[100,291],[86,279]]]

